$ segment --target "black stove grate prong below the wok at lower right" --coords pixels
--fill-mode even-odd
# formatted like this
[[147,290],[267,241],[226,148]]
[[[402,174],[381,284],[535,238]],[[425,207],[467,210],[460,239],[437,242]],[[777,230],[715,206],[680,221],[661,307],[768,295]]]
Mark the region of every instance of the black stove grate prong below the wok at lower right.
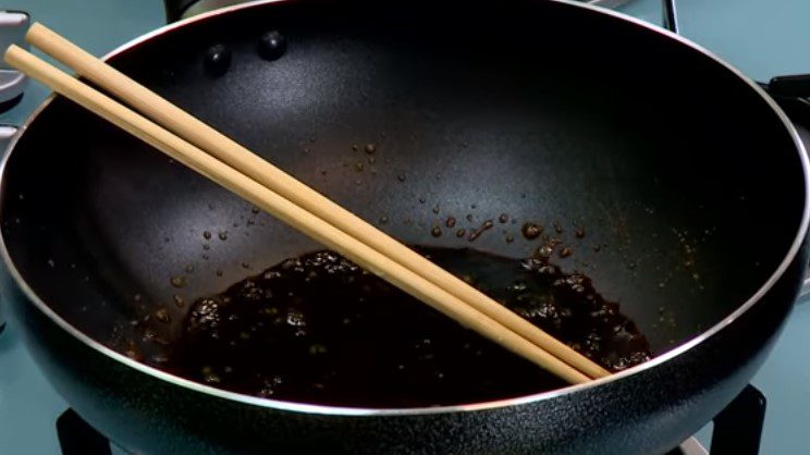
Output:
[[711,455],[759,455],[765,396],[751,384],[714,417]]

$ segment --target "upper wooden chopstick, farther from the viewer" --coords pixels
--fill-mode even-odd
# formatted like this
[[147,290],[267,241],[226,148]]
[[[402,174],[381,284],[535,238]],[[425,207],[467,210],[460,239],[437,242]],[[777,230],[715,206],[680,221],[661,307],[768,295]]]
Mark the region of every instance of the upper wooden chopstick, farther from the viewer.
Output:
[[26,40],[113,94],[144,115],[174,132],[228,165],[297,204],[339,230],[392,258],[412,272],[466,302],[490,318],[591,378],[610,372],[537,325],[500,305],[457,276],[429,261],[365,220],[333,202],[233,139],[172,104],[128,76],[95,58],[56,32],[35,23]]

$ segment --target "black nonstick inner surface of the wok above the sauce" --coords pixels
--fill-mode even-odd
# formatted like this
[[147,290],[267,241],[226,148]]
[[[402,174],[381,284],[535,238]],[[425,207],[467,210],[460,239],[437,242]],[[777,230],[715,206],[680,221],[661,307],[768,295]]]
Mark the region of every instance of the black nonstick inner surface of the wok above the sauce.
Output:
[[[506,22],[506,7],[490,8],[449,23],[445,11],[370,21],[280,4],[175,29],[113,62],[408,244],[519,258],[539,246],[520,226],[542,224],[574,250],[557,263],[585,270],[658,353],[750,297],[802,204],[795,146],[770,107],[674,42],[651,52],[651,38],[590,24],[597,13],[573,29],[573,9]],[[277,28],[289,48],[266,61],[258,36]],[[610,49],[592,45],[606,34]],[[214,44],[233,52],[221,76],[204,64]],[[4,172],[14,265],[103,343],[133,337],[130,321],[161,308],[173,322],[155,330],[171,340],[188,308],[175,295],[192,302],[318,248],[61,98]],[[516,222],[474,243],[431,235],[447,217],[469,230],[501,213]]]

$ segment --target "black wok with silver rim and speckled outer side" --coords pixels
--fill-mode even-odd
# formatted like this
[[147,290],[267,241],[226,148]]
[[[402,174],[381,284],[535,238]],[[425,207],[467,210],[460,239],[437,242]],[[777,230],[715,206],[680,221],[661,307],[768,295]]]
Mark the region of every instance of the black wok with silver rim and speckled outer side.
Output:
[[[612,13],[380,3],[234,8],[140,38],[110,62],[349,210],[388,219],[381,229],[406,243],[470,246],[431,235],[447,216],[466,228],[502,212],[559,222],[575,255],[557,262],[587,268],[658,358],[585,386],[393,410],[260,399],[130,359],[107,344],[171,300],[172,276],[191,300],[317,245],[57,97],[13,145],[0,200],[7,300],[44,371],[136,453],[677,445],[748,383],[798,293],[807,159],[793,126],[732,67]],[[262,58],[260,37],[275,29],[286,51]],[[213,45],[230,66],[206,63]],[[366,143],[377,161],[357,172],[352,145]],[[537,244],[519,225],[472,246],[526,256]],[[204,231],[229,238],[206,242]]]

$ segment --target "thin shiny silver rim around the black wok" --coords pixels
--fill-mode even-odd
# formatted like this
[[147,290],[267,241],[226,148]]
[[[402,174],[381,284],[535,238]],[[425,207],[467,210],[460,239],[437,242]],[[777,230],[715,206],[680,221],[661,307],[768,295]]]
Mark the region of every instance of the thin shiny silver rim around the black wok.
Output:
[[[262,5],[267,5],[267,4],[285,3],[285,2],[291,2],[291,1],[295,1],[295,0],[255,0],[255,1],[247,2],[247,3],[241,3],[241,4],[233,5],[233,7],[228,7],[228,8],[222,8],[219,10],[210,11],[207,13],[201,13],[201,14],[198,14],[198,15],[195,15],[195,16],[192,16],[192,17],[172,23],[172,24],[161,26],[159,28],[154,29],[152,32],[140,35],[119,46],[112,51],[108,52],[101,58],[101,60],[107,61],[125,51],[128,51],[135,48],[136,46],[140,44],[147,42],[157,36],[173,32],[174,29],[177,29],[181,27],[195,24],[197,22],[211,20],[212,17],[217,17],[223,14],[229,14],[234,11],[241,11],[241,10],[246,10],[246,9],[251,9],[251,8],[261,8]],[[796,127],[790,122],[790,120],[787,118],[787,114],[782,110],[782,108],[780,108],[780,106],[754,81],[746,76],[741,71],[739,71],[738,69],[736,69],[735,66],[733,66],[731,63],[726,62],[725,60],[721,59],[719,56],[716,56],[712,51],[677,34],[674,34],[656,25],[652,25],[648,22],[629,16],[624,13],[619,13],[619,12],[608,10],[608,9],[600,8],[600,7],[594,7],[590,3],[584,3],[584,2],[578,2],[574,0],[551,0],[551,1],[555,3],[560,3],[560,4],[565,4],[567,5],[567,8],[579,8],[584,10],[589,10],[596,14],[604,14],[604,15],[611,16],[613,20],[624,21],[631,25],[640,26],[642,28],[646,28],[647,30],[663,35],[666,38],[674,39],[678,41],[680,45],[687,46],[691,48],[692,50],[702,53],[704,57],[709,57],[711,60],[724,66],[725,70],[729,71],[733,75],[738,77],[741,82],[744,82],[751,89],[753,89],[753,91],[757,95],[759,95],[763,101],[765,101],[765,103],[773,110],[774,114],[776,114],[776,116],[781,120],[783,126],[786,130],[786,133],[790,135],[794,142],[796,152],[798,153],[799,162],[801,163],[801,171],[803,175],[805,205],[802,208],[802,214],[801,214],[801,221],[799,223],[799,229],[794,236],[794,241],[790,247],[788,248],[787,254],[783,258],[782,262],[780,262],[778,267],[774,270],[774,272],[753,293],[751,297],[746,299],[744,304],[738,306],[737,309],[732,311],[732,313],[723,318],[720,322],[715,323],[710,329],[703,331],[702,333],[692,337],[691,340],[686,341],[679,346],[664,354],[661,354],[660,356],[656,356],[653,359],[648,360],[643,364],[637,365],[633,368],[628,368],[627,370],[611,374],[605,378],[593,380],[588,383],[568,385],[562,389],[540,392],[540,393],[530,394],[530,395],[523,395],[523,396],[512,397],[512,398],[504,398],[504,399],[496,399],[496,401],[489,401],[489,402],[481,402],[481,403],[471,403],[471,404],[462,404],[462,405],[449,405],[449,406],[437,406],[437,407],[409,407],[409,408],[368,408],[368,407],[346,407],[346,406],[330,406],[330,405],[295,403],[295,402],[285,402],[285,401],[279,401],[279,399],[261,398],[261,397],[242,394],[237,392],[230,392],[230,391],[217,389],[210,385],[205,385],[202,383],[198,383],[198,382],[195,382],[195,381],[192,381],[192,380],[179,377],[179,376],[174,376],[163,370],[157,369],[155,367],[150,367],[146,364],[136,361],[103,345],[102,343],[91,339],[90,336],[84,334],[78,329],[76,329],[71,323],[69,323],[66,320],[64,320],[62,317],[60,317],[56,311],[53,311],[42,299],[39,298],[39,296],[34,292],[34,290],[28,285],[28,283],[23,279],[22,274],[16,269],[14,261],[11,258],[11,255],[9,254],[8,247],[5,245],[5,236],[3,235],[2,231],[0,231],[0,255],[2,256],[3,262],[9,271],[9,274],[12,276],[14,282],[20,287],[20,290],[22,291],[22,293],[25,295],[25,297],[28,299],[29,303],[34,304],[37,307],[37,309],[39,309],[44,315],[46,315],[49,319],[51,319],[62,330],[66,331],[73,337],[77,339],[79,342],[84,343],[87,347],[94,351],[97,351],[99,354],[106,357],[109,357],[120,364],[123,364],[140,373],[147,374],[154,379],[165,381],[172,385],[181,386],[181,388],[194,391],[194,392],[199,392],[206,395],[210,395],[211,397],[214,397],[214,398],[229,399],[233,402],[240,402],[245,405],[251,405],[251,406],[257,406],[257,407],[267,408],[267,409],[280,410],[280,411],[293,411],[293,413],[316,414],[316,415],[327,415],[327,416],[395,417],[395,416],[439,415],[439,414],[470,413],[470,411],[481,411],[481,410],[496,410],[496,409],[512,407],[512,406],[520,406],[520,405],[531,404],[536,402],[559,398],[559,397],[563,397],[569,394],[590,390],[593,388],[599,388],[599,386],[612,383],[614,381],[619,381],[624,378],[628,378],[628,377],[636,376],[636,374],[641,374],[648,370],[651,370],[655,367],[661,366],[662,364],[671,361],[672,359],[680,356],[682,354],[696,348],[698,345],[702,344],[708,339],[714,336],[715,334],[721,332],[724,328],[731,325],[736,319],[741,317],[746,311],[748,311],[757,303],[759,303],[762,299],[762,297],[765,296],[771,291],[771,288],[782,279],[782,276],[785,274],[785,272],[790,267],[793,261],[796,259],[796,256],[799,254],[802,243],[805,242],[806,236],[808,235],[808,225],[810,225],[810,160],[808,159],[805,145],[801,142],[799,134],[796,131]],[[7,192],[5,179],[7,179],[7,164],[9,162],[9,158],[14,152],[17,142],[20,140],[22,135],[25,133],[27,127],[51,103],[51,101],[56,97],[57,97],[56,94],[51,94],[50,96],[48,96],[26,118],[26,120],[20,126],[17,133],[14,135],[12,140],[9,143],[7,152],[3,155],[2,159],[0,159],[0,217],[2,216],[2,202],[5,200],[5,196],[7,196],[5,195],[5,192]]]

